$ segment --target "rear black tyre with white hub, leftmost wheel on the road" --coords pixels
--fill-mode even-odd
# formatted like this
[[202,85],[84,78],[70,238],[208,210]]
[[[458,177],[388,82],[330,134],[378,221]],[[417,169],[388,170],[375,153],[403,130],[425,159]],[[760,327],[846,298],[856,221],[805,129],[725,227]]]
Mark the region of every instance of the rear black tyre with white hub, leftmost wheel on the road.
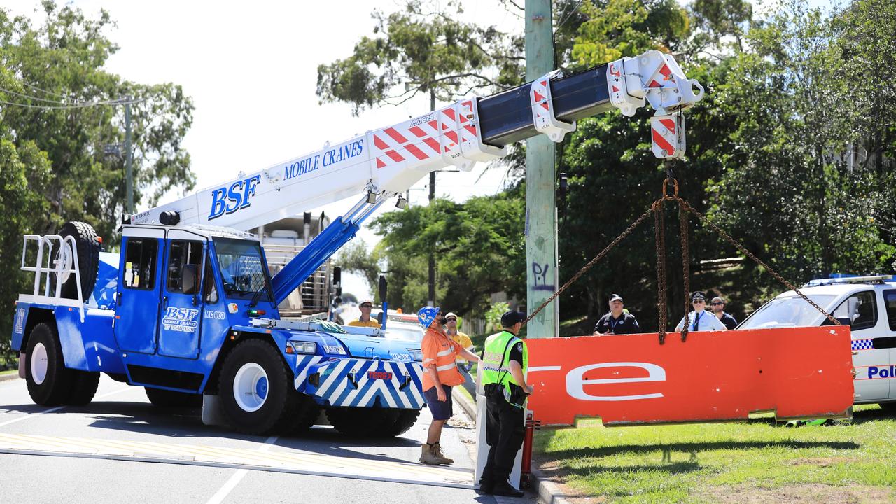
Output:
[[56,327],[40,323],[31,329],[25,352],[25,382],[31,400],[56,406],[71,396],[72,369],[65,368]]

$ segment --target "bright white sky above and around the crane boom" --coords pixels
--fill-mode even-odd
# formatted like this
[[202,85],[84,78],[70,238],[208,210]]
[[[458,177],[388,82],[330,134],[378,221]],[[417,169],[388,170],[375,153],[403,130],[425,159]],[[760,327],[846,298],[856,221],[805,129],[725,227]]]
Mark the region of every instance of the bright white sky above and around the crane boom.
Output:
[[[120,49],[106,65],[109,72],[136,83],[177,83],[193,98],[194,122],[184,147],[190,152],[197,188],[236,178],[240,171],[268,168],[317,151],[327,141],[337,143],[429,109],[428,98],[421,97],[352,117],[349,105],[321,105],[314,92],[317,66],[350,56],[358,39],[373,34],[373,10],[394,12],[400,8],[394,0],[250,4],[74,0],[69,4],[92,18],[105,9],[116,22],[107,35]],[[38,0],[4,0],[4,8],[27,14],[34,22],[43,18],[35,13],[41,11]],[[506,12],[497,0],[468,2],[464,11],[470,21],[522,30],[522,19]],[[485,169],[479,164],[470,173],[438,174],[436,195],[461,202],[499,192],[504,170],[489,169],[483,175]],[[425,178],[411,189],[410,204],[426,204],[427,183]],[[308,211],[336,216],[355,203],[357,198],[349,198]],[[381,212],[395,210],[386,204]],[[358,238],[368,247],[378,240],[366,229]],[[343,290],[359,297],[370,294],[356,275],[343,275]]]

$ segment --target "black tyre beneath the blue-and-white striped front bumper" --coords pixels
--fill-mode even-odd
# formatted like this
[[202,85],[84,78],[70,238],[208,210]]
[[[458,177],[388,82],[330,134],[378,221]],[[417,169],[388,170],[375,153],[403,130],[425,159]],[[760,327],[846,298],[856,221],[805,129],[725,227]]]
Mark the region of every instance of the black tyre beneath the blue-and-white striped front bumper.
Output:
[[398,436],[407,432],[420,414],[418,410],[383,408],[330,408],[326,413],[336,430],[356,438]]

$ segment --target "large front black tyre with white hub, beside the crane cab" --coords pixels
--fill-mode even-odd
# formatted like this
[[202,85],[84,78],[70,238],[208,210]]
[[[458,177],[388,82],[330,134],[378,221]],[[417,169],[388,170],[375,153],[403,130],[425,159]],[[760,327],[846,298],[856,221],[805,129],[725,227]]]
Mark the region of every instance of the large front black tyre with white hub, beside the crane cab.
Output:
[[230,426],[246,434],[289,430],[299,395],[292,373],[271,343],[247,340],[228,353],[221,366],[221,409]]

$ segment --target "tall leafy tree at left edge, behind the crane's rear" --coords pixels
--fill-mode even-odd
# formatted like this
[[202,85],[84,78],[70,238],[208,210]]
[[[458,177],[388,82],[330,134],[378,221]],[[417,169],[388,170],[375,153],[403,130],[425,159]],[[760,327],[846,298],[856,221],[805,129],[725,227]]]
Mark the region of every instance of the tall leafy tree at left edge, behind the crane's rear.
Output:
[[[17,265],[22,234],[54,232],[65,221],[90,222],[105,238],[125,208],[124,110],[134,100],[134,199],[154,204],[170,189],[189,189],[194,175],[181,142],[192,101],[172,83],[129,83],[103,69],[118,49],[105,31],[108,13],[89,19],[72,6],[42,3],[35,26],[0,8],[0,262]],[[25,286],[14,272],[0,280],[0,303],[12,306]],[[12,317],[0,317],[0,349]]]

